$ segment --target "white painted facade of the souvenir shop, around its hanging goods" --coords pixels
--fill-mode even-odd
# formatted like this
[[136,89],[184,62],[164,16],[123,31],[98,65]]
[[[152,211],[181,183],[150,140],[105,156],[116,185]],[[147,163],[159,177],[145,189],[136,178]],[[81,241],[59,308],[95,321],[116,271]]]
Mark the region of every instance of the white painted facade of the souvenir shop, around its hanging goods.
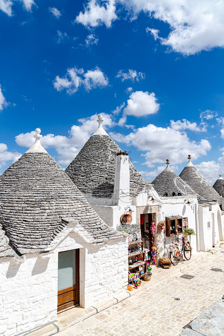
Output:
[[[84,195],[84,194],[83,194]],[[84,195],[85,196],[85,195]],[[151,200],[151,196],[154,200]],[[88,197],[86,195],[86,197]],[[196,225],[196,211],[198,207],[197,198],[194,195],[189,195],[187,199],[191,202],[190,205],[186,204],[186,196],[175,197],[159,197],[155,189],[151,184],[145,186],[141,193],[136,198],[129,198],[129,203],[112,205],[113,201],[110,198],[87,198],[92,208],[98,213],[98,215],[114,229],[120,225],[120,217],[125,213],[125,207],[130,206],[132,212],[132,222],[140,223],[140,214],[152,213],[153,221],[164,220],[165,217],[180,215],[184,218],[188,218],[188,227],[192,228],[195,233],[199,230],[199,225]],[[107,203],[108,205],[102,205]],[[95,204],[94,204],[95,203]],[[100,204],[99,204],[100,203]],[[111,205],[110,205],[111,204]],[[166,244],[164,245],[164,252],[169,252],[169,245],[171,240],[169,237],[165,237],[165,230],[163,230],[162,238],[166,238]],[[179,236],[181,238],[182,235]],[[199,236],[191,236],[192,253],[195,254],[199,251],[199,242],[197,240]],[[189,237],[188,237],[189,238]],[[198,244],[198,247],[197,247]],[[154,235],[154,245],[157,247],[157,235]]]

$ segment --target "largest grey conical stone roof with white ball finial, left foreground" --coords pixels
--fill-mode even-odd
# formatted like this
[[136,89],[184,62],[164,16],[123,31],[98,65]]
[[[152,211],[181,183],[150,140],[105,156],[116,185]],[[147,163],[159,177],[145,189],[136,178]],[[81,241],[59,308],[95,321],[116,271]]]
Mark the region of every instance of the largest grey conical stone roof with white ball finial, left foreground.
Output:
[[73,217],[94,244],[122,237],[97,215],[37,138],[0,176],[0,228],[23,254],[47,248],[66,226],[66,217]]

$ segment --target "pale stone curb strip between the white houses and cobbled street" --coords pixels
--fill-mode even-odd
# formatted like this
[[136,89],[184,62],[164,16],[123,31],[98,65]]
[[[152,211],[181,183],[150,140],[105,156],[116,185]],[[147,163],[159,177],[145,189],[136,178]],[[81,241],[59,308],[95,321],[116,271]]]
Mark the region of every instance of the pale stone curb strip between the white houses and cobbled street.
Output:
[[[222,250],[224,247],[221,248],[214,248],[212,249],[213,253],[217,253],[220,250]],[[40,327],[40,329],[35,330],[31,333],[25,333],[24,335],[29,335],[29,336],[51,336],[54,334],[57,334],[60,331],[63,331],[79,322],[82,322],[84,320],[86,320],[87,318],[94,316],[96,314],[98,314],[99,312],[112,307],[113,305],[129,298],[132,295],[136,295],[139,292],[142,292],[148,288],[150,288],[151,286],[158,284],[162,281],[164,281],[167,278],[173,277],[174,275],[180,273],[182,270],[184,270],[185,268],[194,265],[195,263],[200,262],[201,260],[212,256],[212,253],[210,252],[202,252],[203,255],[200,256],[196,256],[195,255],[195,260],[192,260],[191,262],[187,263],[187,264],[181,264],[181,265],[177,265],[177,266],[173,266],[176,267],[174,269],[172,269],[172,272],[170,272],[169,274],[167,274],[167,272],[165,273],[166,270],[164,270],[164,274],[156,274],[153,278],[151,278],[150,281],[144,281],[142,282],[141,286],[136,290],[133,289],[133,291],[125,291],[124,293],[120,294],[119,297],[113,297],[112,299],[108,299],[106,301],[103,301],[101,303],[96,304],[95,306],[91,306],[89,308],[83,308],[81,310],[81,312],[78,312],[77,314],[75,314],[74,316],[74,312],[72,311],[73,309],[67,310],[65,312],[62,312],[59,314],[59,318],[57,321],[55,321],[54,323],[48,324],[47,326],[43,326],[42,328]],[[76,308],[74,308],[76,309]],[[66,318],[65,318],[66,315]]]

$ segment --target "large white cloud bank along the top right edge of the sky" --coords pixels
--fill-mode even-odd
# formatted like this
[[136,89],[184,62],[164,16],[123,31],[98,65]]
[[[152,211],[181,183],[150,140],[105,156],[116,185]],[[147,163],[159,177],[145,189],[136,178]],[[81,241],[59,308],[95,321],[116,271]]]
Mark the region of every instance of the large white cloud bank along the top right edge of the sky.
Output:
[[76,17],[76,22],[87,27],[102,24],[111,27],[112,22],[118,19],[118,12],[120,17],[126,17],[120,8],[122,6],[131,21],[143,11],[149,20],[153,17],[169,25],[167,37],[159,37],[159,31],[154,28],[148,27],[147,31],[173,51],[191,55],[201,50],[224,47],[222,0],[90,0],[84,12]]

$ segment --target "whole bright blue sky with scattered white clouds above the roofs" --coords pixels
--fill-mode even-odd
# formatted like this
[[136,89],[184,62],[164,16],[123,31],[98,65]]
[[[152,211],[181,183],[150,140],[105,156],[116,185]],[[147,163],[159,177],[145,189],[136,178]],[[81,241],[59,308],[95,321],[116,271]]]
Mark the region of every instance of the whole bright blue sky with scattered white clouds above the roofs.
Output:
[[[103,126],[151,181],[224,175],[224,3],[0,0],[0,173],[41,128],[66,168]],[[172,120],[172,122],[171,122]]]

